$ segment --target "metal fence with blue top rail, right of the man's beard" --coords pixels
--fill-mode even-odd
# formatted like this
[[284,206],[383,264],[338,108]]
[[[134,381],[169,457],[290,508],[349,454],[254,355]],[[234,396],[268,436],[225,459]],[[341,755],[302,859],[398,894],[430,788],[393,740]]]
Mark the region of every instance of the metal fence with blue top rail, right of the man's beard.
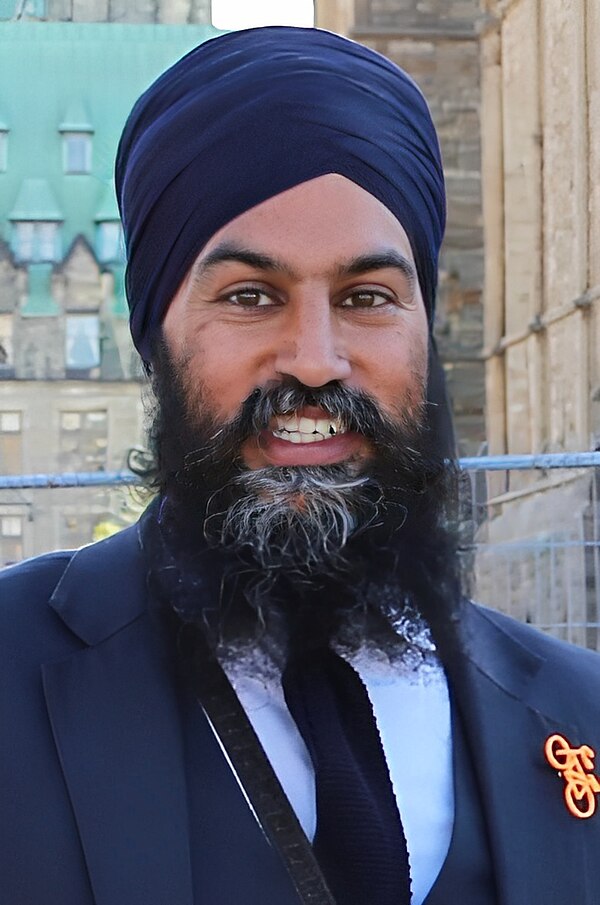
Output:
[[478,600],[600,650],[600,453],[462,460]]

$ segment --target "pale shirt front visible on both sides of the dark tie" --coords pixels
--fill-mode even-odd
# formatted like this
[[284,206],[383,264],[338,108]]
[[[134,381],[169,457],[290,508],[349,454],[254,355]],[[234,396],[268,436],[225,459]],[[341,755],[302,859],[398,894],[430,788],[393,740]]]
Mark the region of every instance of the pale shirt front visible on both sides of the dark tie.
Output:
[[[406,669],[360,652],[350,658],[371,704],[402,815],[412,876],[412,905],[422,905],[444,863],[454,822],[448,686],[439,662]],[[309,839],[316,829],[310,755],[277,678],[256,678],[224,664],[283,789]]]

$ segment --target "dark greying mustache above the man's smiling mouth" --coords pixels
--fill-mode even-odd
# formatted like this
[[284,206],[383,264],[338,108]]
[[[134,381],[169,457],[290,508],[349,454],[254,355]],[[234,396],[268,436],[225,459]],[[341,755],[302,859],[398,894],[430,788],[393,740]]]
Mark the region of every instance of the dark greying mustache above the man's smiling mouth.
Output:
[[[375,399],[363,390],[345,386],[337,381],[322,387],[308,387],[288,378],[276,384],[257,387],[244,400],[238,414],[226,424],[207,424],[208,442],[202,448],[193,448],[184,457],[183,472],[197,470],[216,457],[229,461],[239,457],[242,444],[250,437],[267,430],[273,418],[290,415],[303,408],[322,409],[334,420],[343,423],[347,431],[359,433],[371,440],[381,452],[397,451],[398,428],[406,438],[414,438],[415,445],[425,423],[425,405],[407,401],[403,411],[394,421],[384,414]],[[406,401],[405,401],[406,403]],[[405,446],[405,453],[415,461],[420,459],[416,449]]]

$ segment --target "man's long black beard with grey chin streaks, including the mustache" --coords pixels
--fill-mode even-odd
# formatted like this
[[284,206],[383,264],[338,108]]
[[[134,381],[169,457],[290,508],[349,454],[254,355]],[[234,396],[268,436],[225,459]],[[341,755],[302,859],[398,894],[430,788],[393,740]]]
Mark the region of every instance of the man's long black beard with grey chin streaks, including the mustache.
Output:
[[[255,390],[234,420],[218,424],[206,407],[190,410],[191,388],[162,344],[153,357],[153,390],[150,477],[163,496],[160,533],[174,560],[169,568],[175,564],[181,577],[182,619],[201,619],[215,644],[277,624],[286,643],[301,646],[340,634],[351,644],[365,634],[389,637],[405,603],[432,628],[442,611],[447,620],[459,597],[456,539],[446,517],[455,475],[436,451],[423,407],[405,400],[411,417],[392,420],[367,394],[344,385],[314,389],[286,380]],[[274,415],[305,406],[363,434],[373,455],[247,469],[244,441]]]

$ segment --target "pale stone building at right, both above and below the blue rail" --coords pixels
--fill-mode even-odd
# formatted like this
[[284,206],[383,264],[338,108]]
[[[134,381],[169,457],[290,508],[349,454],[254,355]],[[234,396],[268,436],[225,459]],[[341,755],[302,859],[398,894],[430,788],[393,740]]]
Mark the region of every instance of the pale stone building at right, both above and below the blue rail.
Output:
[[[487,435],[493,453],[600,442],[600,6],[486,0]],[[593,470],[488,482],[482,596],[600,647]],[[504,551],[499,555],[499,551]]]

